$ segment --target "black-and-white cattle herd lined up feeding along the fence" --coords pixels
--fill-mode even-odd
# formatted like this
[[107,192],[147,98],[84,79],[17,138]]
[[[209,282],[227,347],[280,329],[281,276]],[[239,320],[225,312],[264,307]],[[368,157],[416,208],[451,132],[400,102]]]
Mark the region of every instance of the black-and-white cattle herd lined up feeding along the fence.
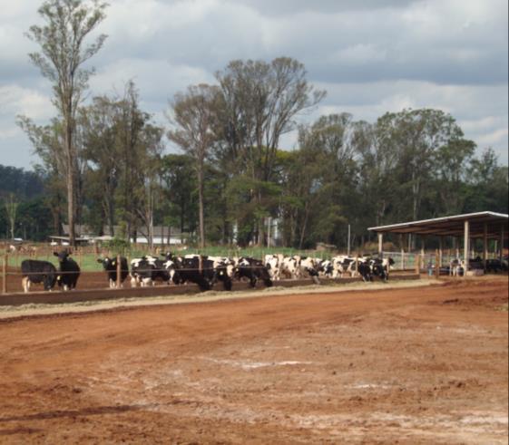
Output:
[[[54,252],[58,257],[58,269],[48,261],[26,259],[21,263],[24,292],[29,292],[32,283],[42,283],[44,290],[58,285],[64,291],[76,287],[80,267],[67,250]],[[266,255],[264,260],[247,256],[228,258],[225,256],[176,256],[166,253],[162,257],[141,256],[128,264],[127,258],[104,257],[97,260],[103,265],[110,287],[116,287],[131,278],[131,285],[147,286],[155,282],[168,285],[194,283],[201,291],[210,290],[221,282],[225,290],[231,290],[232,281],[249,281],[251,287],[263,282],[267,287],[280,279],[311,278],[319,283],[319,277],[340,278],[359,276],[363,281],[372,281],[375,276],[387,281],[389,270],[394,265],[392,258],[371,256],[334,256],[319,259],[310,256]],[[120,271],[120,279],[117,273]]]

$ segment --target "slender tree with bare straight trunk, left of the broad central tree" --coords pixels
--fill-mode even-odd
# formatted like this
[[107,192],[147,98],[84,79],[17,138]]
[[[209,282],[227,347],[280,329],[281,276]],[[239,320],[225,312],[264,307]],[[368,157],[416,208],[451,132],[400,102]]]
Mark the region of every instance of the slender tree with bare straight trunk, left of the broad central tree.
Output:
[[205,245],[205,224],[203,205],[203,179],[205,160],[217,134],[217,110],[219,89],[206,84],[192,85],[185,93],[175,95],[171,102],[171,122],[175,129],[168,132],[168,138],[191,155],[198,182],[200,245]]

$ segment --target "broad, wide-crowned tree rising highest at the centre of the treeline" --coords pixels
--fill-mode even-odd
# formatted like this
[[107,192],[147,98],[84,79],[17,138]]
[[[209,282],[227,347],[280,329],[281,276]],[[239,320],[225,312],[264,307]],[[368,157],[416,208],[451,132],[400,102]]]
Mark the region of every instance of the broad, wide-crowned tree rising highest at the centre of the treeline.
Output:
[[296,117],[316,106],[325,92],[308,84],[302,63],[279,57],[271,63],[237,60],[216,73],[220,83],[223,143],[217,155],[236,174],[265,185],[252,194],[259,208],[259,242],[264,240],[267,209],[262,190],[269,187],[281,136],[297,128]]

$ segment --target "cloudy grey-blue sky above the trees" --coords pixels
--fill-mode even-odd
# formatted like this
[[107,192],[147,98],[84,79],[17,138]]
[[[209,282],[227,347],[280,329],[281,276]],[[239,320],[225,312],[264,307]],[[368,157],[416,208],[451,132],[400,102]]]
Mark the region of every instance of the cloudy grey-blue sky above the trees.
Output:
[[[29,63],[24,33],[41,0],[0,0],[0,164],[31,168],[33,148],[15,125],[54,116],[51,86]],[[376,121],[386,111],[451,113],[478,150],[507,164],[507,0],[110,0],[93,57],[90,95],[122,92],[132,79],[142,108],[165,123],[175,92],[233,59],[304,63],[328,92],[302,117],[347,111]],[[283,141],[291,149],[294,138]]]

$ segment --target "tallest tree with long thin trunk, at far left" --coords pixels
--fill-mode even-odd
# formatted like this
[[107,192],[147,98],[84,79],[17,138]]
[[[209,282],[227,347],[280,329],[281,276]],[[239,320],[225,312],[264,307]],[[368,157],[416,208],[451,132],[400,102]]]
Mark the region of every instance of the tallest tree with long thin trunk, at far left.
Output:
[[27,36],[41,46],[40,53],[29,57],[41,73],[53,83],[53,103],[63,121],[64,168],[67,187],[67,218],[69,241],[75,244],[74,219],[76,215],[77,149],[74,144],[75,118],[83,92],[93,69],[83,63],[103,46],[105,34],[97,36],[92,44],[85,38],[105,17],[106,4],[99,0],[46,0],[38,13],[45,24],[34,24]]

